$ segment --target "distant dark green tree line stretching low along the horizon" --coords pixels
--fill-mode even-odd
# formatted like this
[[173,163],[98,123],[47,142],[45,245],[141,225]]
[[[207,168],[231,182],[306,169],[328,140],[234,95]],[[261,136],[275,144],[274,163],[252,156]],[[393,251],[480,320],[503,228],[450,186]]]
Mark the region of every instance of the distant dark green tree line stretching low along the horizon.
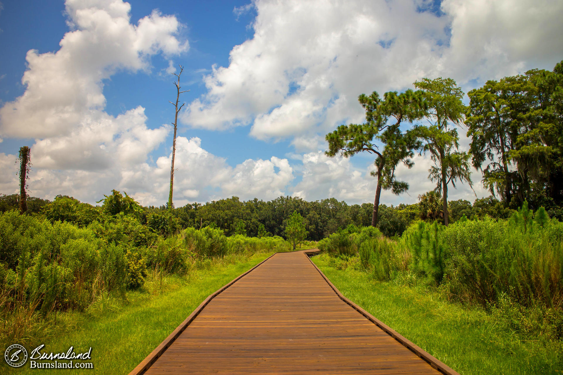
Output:
[[[418,204],[379,206],[377,228],[388,237],[400,236],[413,220],[427,221],[443,219],[441,200],[433,199],[434,192],[421,196]],[[17,210],[19,195],[0,195],[0,212]],[[168,236],[186,228],[218,228],[226,236],[244,234],[248,237],[287,237],[288,220],[293,213],[302,216],[306,240],[319,241],[330,234],[345,229],[348,225],[368,227],[372,223],[373,204],[348,205],[345,201],[328,198],[319,201],[306,201],[299,197],[280,196],[270,201],[254,198],[241,201],[238,197],[225,198],[205,204],[187,204],[168,210],[160,207],[138,205],[127,194],[113,191],[105,196],[102,206],[82,203],[69,196],[59,195],[53,201],[28,197],[28,210],[31,215],[46,216],[52,223],[68,222],[79,227],[87,227],[92,222],[114,220],[118,215],[135,219],[151,233]],[[513,210],[504,207],[501,201],[492,196],[476,199],[473,204],[467,200],[448,202],[448,215],[452,222],[463,215],[467,218],[483,218],[489,215],[496,219],[506,219]],[[124,217],[123,219],[126,219]]]

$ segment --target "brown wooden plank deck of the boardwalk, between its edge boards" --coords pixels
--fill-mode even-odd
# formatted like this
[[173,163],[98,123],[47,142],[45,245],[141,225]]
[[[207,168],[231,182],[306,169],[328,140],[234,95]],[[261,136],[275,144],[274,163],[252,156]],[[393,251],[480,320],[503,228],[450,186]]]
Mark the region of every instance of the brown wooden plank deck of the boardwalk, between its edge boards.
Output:
[[131,374],[456,374],[409,350],[331,285],[302,251],[274,254]]

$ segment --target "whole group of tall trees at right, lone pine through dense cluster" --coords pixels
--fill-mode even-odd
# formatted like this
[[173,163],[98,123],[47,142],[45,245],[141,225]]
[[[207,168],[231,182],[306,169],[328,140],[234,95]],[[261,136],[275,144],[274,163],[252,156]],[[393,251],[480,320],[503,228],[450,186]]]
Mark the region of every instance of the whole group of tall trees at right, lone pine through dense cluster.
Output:
[[[409,184],[397,180],[404,164],[413,168],[415,152],[430,154],[434,163],[428,178],[436,183],[432,198],[442,205],[449,223],[448,188],[468,183],[471,166],[483,173],[482,183],[504,207],[516,209],[524,201],[559,219],[563,211],[563,61],[553,71],[532,69],[523,75],[488,80],[481,88],[464,93],[451,78],[423,78],[413,89],[374,91],[358,97],[365,123],[340,125],[325,139],[334,157],[359,152],[376,156],[376,196],[372,226],[379,217],[381,189],[400,195]],[[405,125],[412,124],[410,127]],[[469,152],[459,150],[458,128],[466,126]]]

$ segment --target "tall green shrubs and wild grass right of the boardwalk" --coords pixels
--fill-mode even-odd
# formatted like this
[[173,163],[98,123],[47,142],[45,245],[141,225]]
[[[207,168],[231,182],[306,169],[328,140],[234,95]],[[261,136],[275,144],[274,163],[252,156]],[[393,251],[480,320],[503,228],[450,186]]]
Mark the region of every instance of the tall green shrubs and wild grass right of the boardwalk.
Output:
[[[342,238],[349,245],[339,247]],[[525,202],[508,220],[417,222],[395,240],[358,238],[342,231],[323,240],[336,268],[360,265],[375,281],[426,285],[515,322],[527,339],[563,339],[563,223],[543,207],[533,213]]]

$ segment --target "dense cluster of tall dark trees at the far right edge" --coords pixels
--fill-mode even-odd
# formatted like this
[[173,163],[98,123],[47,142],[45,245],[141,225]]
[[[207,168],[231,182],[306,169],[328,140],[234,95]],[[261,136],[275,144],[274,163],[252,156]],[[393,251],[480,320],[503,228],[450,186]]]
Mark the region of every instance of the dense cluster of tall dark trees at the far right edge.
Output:
[[562,93],[561,63],[553,71],[532,69],[489,80],[468,93],[473,166],[505,206],[528,200],[534,209],[543,205],[561,219]]

